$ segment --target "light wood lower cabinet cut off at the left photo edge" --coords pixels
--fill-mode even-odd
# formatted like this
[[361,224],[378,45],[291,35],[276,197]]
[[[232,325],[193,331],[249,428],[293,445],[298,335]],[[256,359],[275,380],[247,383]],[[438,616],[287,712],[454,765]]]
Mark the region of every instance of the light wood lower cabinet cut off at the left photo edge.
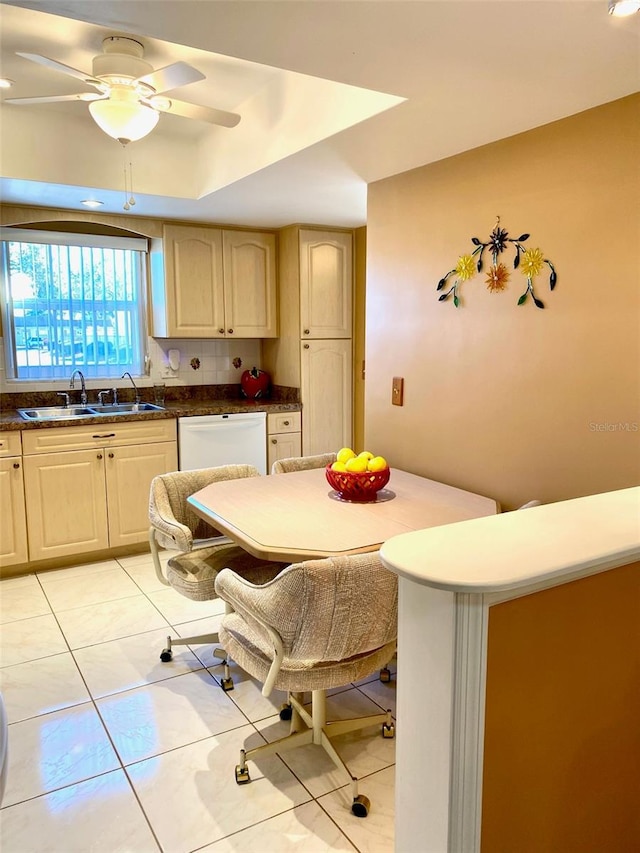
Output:
[[0,566],[27,559],[22,442],[19,432],[0,432]]

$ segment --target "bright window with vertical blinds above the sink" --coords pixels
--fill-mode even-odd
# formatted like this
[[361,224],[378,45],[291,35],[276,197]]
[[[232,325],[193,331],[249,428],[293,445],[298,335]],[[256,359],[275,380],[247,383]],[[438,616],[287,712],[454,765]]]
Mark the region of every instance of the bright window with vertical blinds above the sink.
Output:
[[140,375],[147,241],[2,229],[7,376]]

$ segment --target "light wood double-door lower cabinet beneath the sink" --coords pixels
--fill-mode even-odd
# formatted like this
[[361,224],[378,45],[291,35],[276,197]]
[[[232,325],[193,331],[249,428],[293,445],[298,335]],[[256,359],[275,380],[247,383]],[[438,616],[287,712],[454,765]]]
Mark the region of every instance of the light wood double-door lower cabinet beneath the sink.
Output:
[[23,453],[29,560],[138,544],[151,480],[178,467],[176,422],[33,430]]

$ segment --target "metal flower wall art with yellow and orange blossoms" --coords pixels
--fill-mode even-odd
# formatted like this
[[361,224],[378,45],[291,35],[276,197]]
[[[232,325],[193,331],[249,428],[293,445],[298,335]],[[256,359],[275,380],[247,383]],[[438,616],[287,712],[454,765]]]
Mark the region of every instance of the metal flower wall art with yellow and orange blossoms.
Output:
[[446,302],[451,296],[453,297],[455,307],[460,307],[460,287],[465,281],[472,279],[476,272],[482,272],[485,249],[488,249],[491,253],[491,265],[487,270],[487,277],[485,279],[487,290],[491,293],[500,293],[500,291],[505,290],[511,271],[506,264],[500,261],[500,256],[507,251],[509,244],[511,244],[515,248],[513,269],[519,270],[527,279],[527,286],[522,296],[518,299],[518,305],[524,305],[529,297],[531,297],[531,301],[536,308],[544,308],[544,302],[534,292],[533,280],[536,276],[540,275],[545,264],[550,270],[549,290],[553,290],[556,286],[558,276],[555,267],[548,258],[545,258],[542,249],[527,248],[524,245],[529,236],[529,234],[521,234],[519,237],[509,237],[509,233],[500,227],[500,217],[498,216],[495,227],[489,235],[488,240],[483,243],[478,237],[472,237],[471,242],[475,246],[475,249],[467,255],[461,255],[455,267],[440,279],[436,290],[442,290],[449,280],[455,276],[453,284],[438,297],[438,301]]

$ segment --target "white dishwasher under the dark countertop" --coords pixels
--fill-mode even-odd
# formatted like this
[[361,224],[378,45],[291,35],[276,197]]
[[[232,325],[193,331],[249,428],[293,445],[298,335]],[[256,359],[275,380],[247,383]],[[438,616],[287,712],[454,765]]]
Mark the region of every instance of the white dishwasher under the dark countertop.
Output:
[[181,471],[247,464],[266,474],[266,412],[178,418],[178,461]]

